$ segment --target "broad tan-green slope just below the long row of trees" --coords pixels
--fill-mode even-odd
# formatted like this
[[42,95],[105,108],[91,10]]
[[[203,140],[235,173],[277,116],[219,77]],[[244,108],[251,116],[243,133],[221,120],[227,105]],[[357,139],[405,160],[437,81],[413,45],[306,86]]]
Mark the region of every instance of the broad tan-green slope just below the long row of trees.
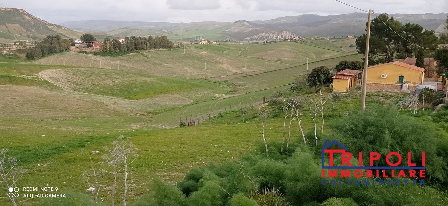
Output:
[[184,49],[172,49],[145,51],[120,57],[61,53],[39,59],[34,63],[97,67],[186,78],[226,76],[245,71],[264,71],[285,65],[275,61],[259,61],[255,58],[221,54],[194,47],[185,49],[185,54]]

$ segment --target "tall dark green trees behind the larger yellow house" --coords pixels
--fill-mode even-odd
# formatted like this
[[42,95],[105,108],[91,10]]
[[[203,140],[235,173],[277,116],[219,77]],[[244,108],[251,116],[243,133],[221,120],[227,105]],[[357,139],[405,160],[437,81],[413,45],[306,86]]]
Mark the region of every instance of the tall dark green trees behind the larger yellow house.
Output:
[[[445,29],[447,31],[448,26]],[[361,54],[365,54],[366,39],[366,34],[356,39],[356,49]],[[382,13],[371,21],[368,65],[416,57],[416,66],[424,68],[424,58],[434,58],[439,63],[435,73],[442,75],[448,69],[448,48],[436,49],[440,44],[448,44],[448,32],[441,33],[438,38],[434,30],[426,30],[418,24],[402,24],[387,13]]]

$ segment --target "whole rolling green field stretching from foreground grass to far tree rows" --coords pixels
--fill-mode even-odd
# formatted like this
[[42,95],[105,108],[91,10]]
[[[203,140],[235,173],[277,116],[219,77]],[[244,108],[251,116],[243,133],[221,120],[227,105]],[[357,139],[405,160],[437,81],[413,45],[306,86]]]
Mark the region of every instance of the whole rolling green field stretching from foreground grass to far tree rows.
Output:
[[[10,149],[19,167],[28,170],[19,187],[49,185],[89,195],[82,174],[99,165],[117,136],[130,137],[139,154],[130,174],[129,200],[134,202],[149,190],[153,176],[179,182],[191,168],[222,165],[258,149],[260,119],[251,108],[277,91],[288,92],[296,76],[342,60],[361,56],[337,46],[279,42],[191,44],[185,50],[119,57],[66,52],[28,63],[0,63],[0,148]],[[405,95],[371,93],[367,106]],[[346,94],[326,105],[328,124],[358,110],[359,103],[358,94]],[[240,108],[249,112],[243,115]],[[310,115],[303,120],[306,130],[313,127]],[[178,127],[190,121],[199,125]],[[266,123],[269,141],[280,141],[281,117]],[[294,141],[298,137],[296,131]],[[96,150],[100,154],[91,154]],[[100,198],[105,203],[110,203],[106,186],[111,183],[104,179]],[[0,205],[10,205],[0,197]],[[40,201],[17,200],[20,205]]]

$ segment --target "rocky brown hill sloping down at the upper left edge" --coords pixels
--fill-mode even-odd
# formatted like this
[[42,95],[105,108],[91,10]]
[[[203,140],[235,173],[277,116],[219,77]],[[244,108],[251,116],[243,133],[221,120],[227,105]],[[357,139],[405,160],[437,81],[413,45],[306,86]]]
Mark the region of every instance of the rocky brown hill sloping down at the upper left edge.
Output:
[[82,34],[66,27],[48,23],[23,9],[0,8],[0,41],[38,41],[48,35],[79,38]]

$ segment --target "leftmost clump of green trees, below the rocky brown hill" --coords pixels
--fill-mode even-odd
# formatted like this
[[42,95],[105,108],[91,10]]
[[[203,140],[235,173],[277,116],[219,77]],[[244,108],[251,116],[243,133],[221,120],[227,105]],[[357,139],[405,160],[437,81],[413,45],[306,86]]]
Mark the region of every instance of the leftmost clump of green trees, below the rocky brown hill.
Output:
[[34,58],[44,57],[70,49],[71,41],[62,39],[59,35],[50,35],[36,44],[36,46],[26,52],[26,58],[33,60]]

